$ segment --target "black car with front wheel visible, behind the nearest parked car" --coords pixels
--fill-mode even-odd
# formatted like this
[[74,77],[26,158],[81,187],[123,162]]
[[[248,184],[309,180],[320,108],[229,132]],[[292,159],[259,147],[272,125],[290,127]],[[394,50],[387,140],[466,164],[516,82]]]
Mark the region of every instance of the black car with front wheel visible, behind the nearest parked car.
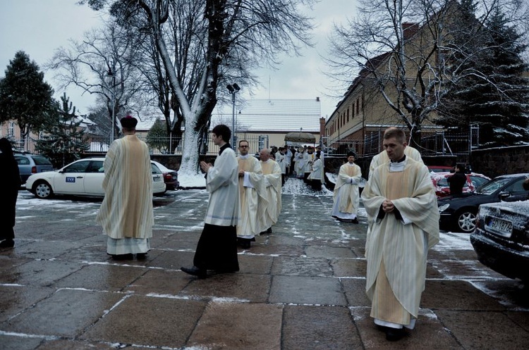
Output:
[[474,192],[439,198],[437,205],[440,227],[460,232],[473,232],[476,214],[481,204],[526,199],[528,191],[523,189],[525,177],[529,177],[529,173],[500,175],[478,187]]

